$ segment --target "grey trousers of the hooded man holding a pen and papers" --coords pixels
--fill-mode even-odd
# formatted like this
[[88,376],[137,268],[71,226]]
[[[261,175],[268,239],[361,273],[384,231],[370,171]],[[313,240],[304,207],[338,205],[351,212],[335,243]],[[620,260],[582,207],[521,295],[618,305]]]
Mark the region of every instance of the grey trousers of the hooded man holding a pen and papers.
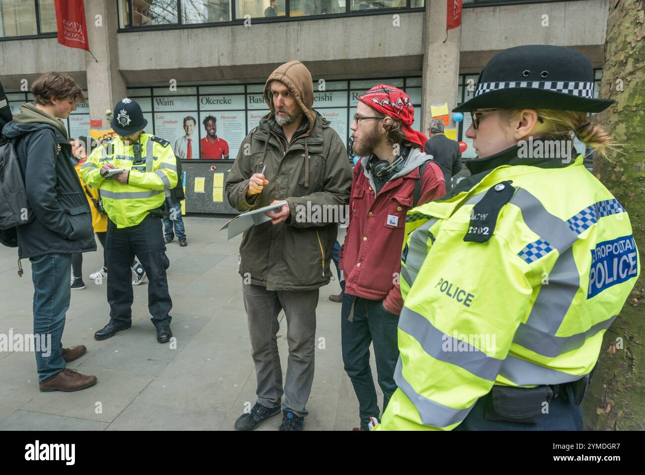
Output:
[[[257,376],[257,402],[279,407],[284,394],[283,409],[304,418],[304,406],[312,392],[319,290],[266,290],[247,284],[242,285],[242,294]],[[284,390],[277,345],[278,314],[283,308],[289,345]]]

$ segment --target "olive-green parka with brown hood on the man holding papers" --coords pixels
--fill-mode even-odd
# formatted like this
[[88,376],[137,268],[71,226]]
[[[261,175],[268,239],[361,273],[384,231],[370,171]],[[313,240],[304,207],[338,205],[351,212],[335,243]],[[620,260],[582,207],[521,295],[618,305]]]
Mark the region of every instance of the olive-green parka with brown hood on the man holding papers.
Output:
[[[308,128],[303,126],[296,132],[286,147],[279,126],[273,122],[270,83],[276,79],[288,86],[304,112],[303,120],[309,122]],[[286,199],[291,216],[283,223],[272,225],[269,221],[244,232],[239,273],[267,290],[312,290],[331,279],[330,258],[338,225],[329,219],[301,217],[307,210],[311,216],[323,207],[342,217],[352,187],[350,162],[341,137],[312,109],[312,77],[302,63],[291,61],[275,70],[264,86],[264,100],[271,112],[239,148],[226,180],[226,197],[242,212]],[[264,165],[269,184],[248,201],[249,179]]]

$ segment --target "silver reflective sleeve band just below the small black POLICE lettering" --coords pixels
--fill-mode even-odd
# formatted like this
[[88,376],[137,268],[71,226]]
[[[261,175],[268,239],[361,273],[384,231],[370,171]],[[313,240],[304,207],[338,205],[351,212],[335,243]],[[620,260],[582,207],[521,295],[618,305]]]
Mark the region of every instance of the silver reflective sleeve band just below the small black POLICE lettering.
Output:
[[[501,359],[488,356],[468,342],[466,342],[467,349],[462,349],[464,346],[464,343],[461,343],[462,340],[455,339],[435,328],[427,318],[414,310],[405,306],[402,308],[399,328],[417,340],[424,352],[432,358],[457,365],[479,378],[488,379],[488,381],[495,381],[497,378],[497,372],[502,364]],[[461,347],[459,347],[462,349],[461,351],[456,350],[459,343],[461,343]],[[446,345],[449,349],[454,350],[445,350]]]

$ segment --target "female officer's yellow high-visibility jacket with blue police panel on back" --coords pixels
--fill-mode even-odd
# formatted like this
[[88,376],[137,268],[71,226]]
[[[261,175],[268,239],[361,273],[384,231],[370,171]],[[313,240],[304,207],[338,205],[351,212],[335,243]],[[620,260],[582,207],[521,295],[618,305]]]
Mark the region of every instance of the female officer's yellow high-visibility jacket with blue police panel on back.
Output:
[[637,281],[630,219],[582,156],[517,150],[408,212],[398,389],[379,430],[452,430],[493,385],[582,378]]

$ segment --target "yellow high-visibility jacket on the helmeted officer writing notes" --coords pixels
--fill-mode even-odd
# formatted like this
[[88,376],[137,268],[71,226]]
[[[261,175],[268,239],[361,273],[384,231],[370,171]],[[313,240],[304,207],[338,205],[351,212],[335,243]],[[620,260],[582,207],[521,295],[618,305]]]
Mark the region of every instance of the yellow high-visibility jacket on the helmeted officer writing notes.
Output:
[[[81,167],[83,180],[101,188],[101,198],[110,220],[118,228],[137,225],[150,210],[164,203],[164,190],[177,185],[177,162],[170,143],[151,134],[141,134],[141,153],[126,146],[121,137],[107,139],[95,148]],[[128,183],[101,177],[104,163],[130,170]]]

